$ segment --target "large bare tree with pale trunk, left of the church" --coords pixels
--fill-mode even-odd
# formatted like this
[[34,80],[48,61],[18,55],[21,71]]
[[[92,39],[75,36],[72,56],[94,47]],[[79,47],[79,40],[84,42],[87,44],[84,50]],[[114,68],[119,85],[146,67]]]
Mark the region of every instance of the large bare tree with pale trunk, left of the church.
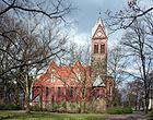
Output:
[[[36,20],[30,15],[31,19]],[[17,82],[24,91],[27,111],[33,80],[37,75],[34,71],[37,73],[50,59],[61,56],[67,41],[67,35],[63,36],[56,27],[60,21],[52,21],[50,26],[46,28],[44,25],[39,29],[39,22],[32,24],[30,21],[23,24],[23,21],[16,21],[8,13],[2,14],[0,21],[0,77],[8,83],[8,76],[14,76],[12,81]]]

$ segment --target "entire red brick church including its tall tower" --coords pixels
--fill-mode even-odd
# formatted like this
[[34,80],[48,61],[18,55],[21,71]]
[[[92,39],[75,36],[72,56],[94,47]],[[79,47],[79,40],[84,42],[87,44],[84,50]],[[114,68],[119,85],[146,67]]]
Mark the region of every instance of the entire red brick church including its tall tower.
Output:
[[[107,76],[107,35],[99,17],[92,29],[92,61],[85,65],[58,65],[51,61],[35,82],[33,103],[95,103],[105,109],[113,100],[114,81]],[[96,103],[96,104],[97,104]]]

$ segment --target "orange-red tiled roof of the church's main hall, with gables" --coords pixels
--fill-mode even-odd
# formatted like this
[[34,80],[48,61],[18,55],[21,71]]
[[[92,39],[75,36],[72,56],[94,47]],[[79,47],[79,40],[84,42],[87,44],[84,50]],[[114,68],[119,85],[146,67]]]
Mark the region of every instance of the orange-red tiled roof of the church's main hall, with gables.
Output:
[[48,82],[48,80],[51,79],[51,74],[56,76],[56,80],[61,80],[61,81],[66,80],[68,83],[70,81],[72,83],[76,75],[75,72],[80,72],[80,71],[75,71],[78,68],[80,68],[79,69],[80,71],[85,70],[87,74],[86,80],[89,81],[89,84],[92,85],[92,83],[90,83],[91,68],[87,65],[83,65],[80,61],[76,61],[73,65],[58,65],[55,61],[52,61],[48,70],[46,71],[46,73],[40,75],[40,77],[35,83],[35,85],[40,85],[40,84],[49,85],[50,83]]

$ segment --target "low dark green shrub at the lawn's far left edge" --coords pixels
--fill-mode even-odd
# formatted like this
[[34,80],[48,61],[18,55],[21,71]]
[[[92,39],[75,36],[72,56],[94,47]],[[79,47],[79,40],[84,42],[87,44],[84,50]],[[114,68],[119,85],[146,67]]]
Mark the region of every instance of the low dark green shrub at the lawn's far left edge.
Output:
[[21,107],[19,105],[13,104],[0,104],[0,110],[20,110]]

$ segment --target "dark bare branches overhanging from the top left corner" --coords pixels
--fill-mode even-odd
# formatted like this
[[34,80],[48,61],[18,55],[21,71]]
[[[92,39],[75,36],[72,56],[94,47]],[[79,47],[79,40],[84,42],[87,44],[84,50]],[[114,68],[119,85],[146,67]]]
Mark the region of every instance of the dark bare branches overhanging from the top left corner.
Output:
[[[0,11],[0,15],[8,13],[9,11],[13,11],[17,15],[23,12],[30,13],[40,13],[46,15],[49,19],[62,19],[70,12],[71,4],[66,3],[63,0],[52,0],[50,1],[32,1],[32,0],[2,0],[0,2],[2,4],[2,9]],[[49,7],[46,7],[49,4]]]

